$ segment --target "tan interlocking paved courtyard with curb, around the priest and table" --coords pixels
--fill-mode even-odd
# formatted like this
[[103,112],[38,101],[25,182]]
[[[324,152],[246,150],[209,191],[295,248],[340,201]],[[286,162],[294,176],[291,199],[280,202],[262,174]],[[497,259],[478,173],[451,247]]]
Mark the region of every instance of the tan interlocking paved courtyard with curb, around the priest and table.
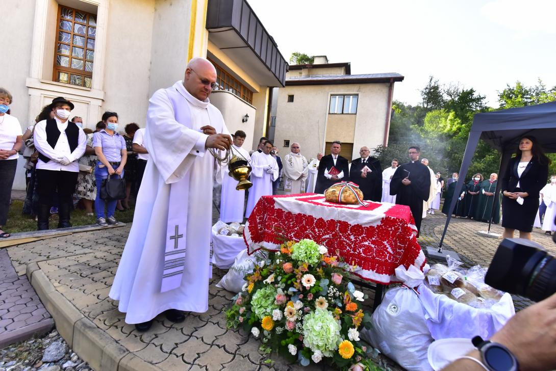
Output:
[[[441,214],[428,215],[420,244],[438,246],[444,222]],[[126,324],[108,292],[130,227],[75,233],[0,250],[4,254],[7,250],[16,277],[27,269],[39,295],[56,299],[46,306],[57,320],[59,332],[93,369],[147,369],[145,362],[155,370],[300,369],[275,356],[273,365],[265,364],[259,340],[242,330],[226,328],[224,309],[234,294],[216,288],[216,275],[210,283],[206,313],[187,313],[180,324],[159,315],[146,333]],[[468,266],[489,263],[499,240],[475,233],[485,227],[484,223],[454,219],[445,247],[458,252]],[[548,237],[535,232],[533,238],[553,249]],[[518,308],[530,304],[523,298],[515,302]],[[309,367],[312,369],[325,369],[325,365]]]

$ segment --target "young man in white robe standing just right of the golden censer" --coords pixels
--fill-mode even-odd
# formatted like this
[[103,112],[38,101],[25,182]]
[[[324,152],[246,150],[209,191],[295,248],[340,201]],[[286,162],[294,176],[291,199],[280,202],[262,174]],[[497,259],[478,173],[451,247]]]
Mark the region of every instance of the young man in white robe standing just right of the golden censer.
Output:
[[249,218],[257,202],[262,196],[272,195],[272,182],[278,179],[278,164],[270,154],[272,142],[266,141],[262,152],[253,152],[251,155],[251,183],[245,217]]

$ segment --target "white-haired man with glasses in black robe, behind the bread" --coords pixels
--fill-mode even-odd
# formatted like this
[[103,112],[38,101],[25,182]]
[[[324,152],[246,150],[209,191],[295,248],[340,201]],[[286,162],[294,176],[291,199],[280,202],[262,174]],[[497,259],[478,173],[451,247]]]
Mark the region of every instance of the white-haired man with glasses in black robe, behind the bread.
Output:
[[351,162],[349,180],[359,185],[363,198],[380,202],[382,198],[382,167],[378,159],[370,157],[368,147],[361,147],[360,158]]

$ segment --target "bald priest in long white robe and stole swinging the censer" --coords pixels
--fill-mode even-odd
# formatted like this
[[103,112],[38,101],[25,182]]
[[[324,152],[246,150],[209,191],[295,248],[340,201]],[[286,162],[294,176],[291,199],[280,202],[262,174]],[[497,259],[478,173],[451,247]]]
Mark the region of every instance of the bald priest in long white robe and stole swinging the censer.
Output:
[[209,149],[224,151],[232,144],[222,114],[209,102],[215,83],[214,66],[193,58],[183,81],[156,91],[149,101],[145,147],[150,160],[110,290],[126,323],[140,331],[162,312],[181,322],[182,310],[208,309],[217,166]]

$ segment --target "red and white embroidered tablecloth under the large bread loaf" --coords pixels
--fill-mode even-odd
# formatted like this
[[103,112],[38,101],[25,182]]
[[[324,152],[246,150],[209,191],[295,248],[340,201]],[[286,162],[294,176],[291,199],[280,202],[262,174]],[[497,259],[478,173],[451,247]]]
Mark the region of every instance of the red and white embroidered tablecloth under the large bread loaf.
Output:
[[421,269],[425,255],[408,206],[366,202],[327,202],[322,194],[263,196],[247,219],[244,239],[249,253],[280,248],[286,239],[309,238],[339,250],[352,273],[377,283],[396,282],[394,269],[403,264]]

